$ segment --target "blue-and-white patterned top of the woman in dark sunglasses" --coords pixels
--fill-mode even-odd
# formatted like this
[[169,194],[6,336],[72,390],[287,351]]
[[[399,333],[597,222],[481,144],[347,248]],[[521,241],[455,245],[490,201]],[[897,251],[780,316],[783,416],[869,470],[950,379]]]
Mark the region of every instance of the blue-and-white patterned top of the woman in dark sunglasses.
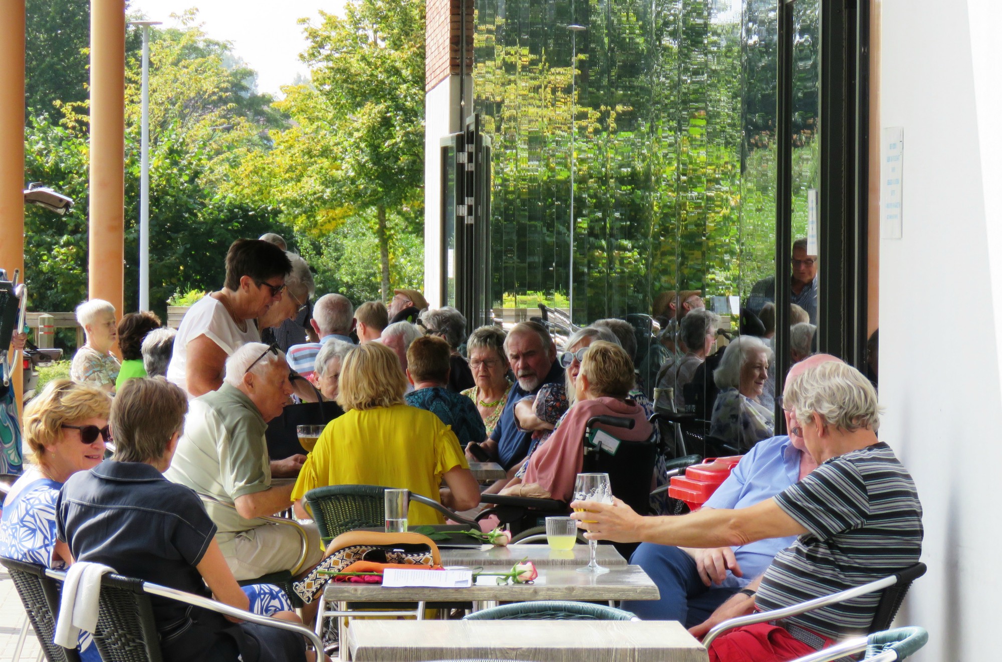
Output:
[[[11,488],[12,497],[0,515],[0,556],[63,570],[66,562],[53,561],[56,546],[56,497],[61,483],[30,467]],[[89,632],[80,631],[77,649],[83,662],[101,662]]]

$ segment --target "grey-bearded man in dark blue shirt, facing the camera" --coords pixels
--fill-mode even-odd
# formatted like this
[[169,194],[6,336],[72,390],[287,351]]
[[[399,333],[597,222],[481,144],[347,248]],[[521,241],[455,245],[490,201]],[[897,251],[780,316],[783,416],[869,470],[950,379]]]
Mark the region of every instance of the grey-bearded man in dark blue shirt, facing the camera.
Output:
[[504,350],[518,383],[511,389],[494,432],[481,448],[507,471],[525,458],[532,437],[532,433],[518,426],[515,405],[534,397],[544,384],[559,384],[564,377],[553,339],[538,322],[522,321],[512,326],[504,341]]

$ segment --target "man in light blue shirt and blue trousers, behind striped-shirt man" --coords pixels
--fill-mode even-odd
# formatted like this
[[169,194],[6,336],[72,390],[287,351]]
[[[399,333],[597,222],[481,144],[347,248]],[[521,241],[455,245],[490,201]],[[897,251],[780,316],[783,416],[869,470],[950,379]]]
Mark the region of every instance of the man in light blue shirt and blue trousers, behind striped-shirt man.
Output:
[[[693,311],[685,315],[683,334],[686,322],[699,314]],[[842,363],[831,355],[818,355],[794,366],[788,379],[792,380],[807,369],[830,361]],[[794,427],[789,412],[787,424],[788,428]],[[817,466],[811,454],[806,452],[804,440],[796,435],[764,440],[741,458],[730,477],[702,508],[754,506],[780,494]],[[660,598],[656,601],[630,602],[623,609],[642,619],[679,621],[685,627],[693,627],[705,621],[724,600],[744,590],[753,579],[765,572],[777,553],[793,542],[794,538],[787,536],[716,549],[642,543],[636,548],[630,563],[642,567],[654,580]]]

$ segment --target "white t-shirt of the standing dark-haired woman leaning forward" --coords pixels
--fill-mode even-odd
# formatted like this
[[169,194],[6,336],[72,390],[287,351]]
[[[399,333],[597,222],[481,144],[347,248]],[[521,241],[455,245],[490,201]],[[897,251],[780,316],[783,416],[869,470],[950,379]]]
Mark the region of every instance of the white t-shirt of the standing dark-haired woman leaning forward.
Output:
[[198,300],[184,313],[177,336],[174,337],[174,350],[167,366],[167,382],[172,382],[187,392],[187,345],[199,336],[205,336],[218,345],[227,357],[247,343],[261,343],[261,334],[254,320],[247,319],[246,324],[247,329],[241,332],[229,316],[226,306],[211,296]]

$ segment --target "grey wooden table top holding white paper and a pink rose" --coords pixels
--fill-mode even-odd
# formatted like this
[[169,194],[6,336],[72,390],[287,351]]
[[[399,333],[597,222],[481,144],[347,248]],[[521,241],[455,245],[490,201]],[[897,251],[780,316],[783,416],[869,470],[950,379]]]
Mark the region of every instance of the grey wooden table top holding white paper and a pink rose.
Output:
[[531,584],[478,585],[461,589],[427,587],[387,588],[379,584],[328,582],[324,597],[331,602],[468,602],[496,600],[657,600],[654,582],[640,566],[610,566],[603,575],[576,568],[539,568]]

